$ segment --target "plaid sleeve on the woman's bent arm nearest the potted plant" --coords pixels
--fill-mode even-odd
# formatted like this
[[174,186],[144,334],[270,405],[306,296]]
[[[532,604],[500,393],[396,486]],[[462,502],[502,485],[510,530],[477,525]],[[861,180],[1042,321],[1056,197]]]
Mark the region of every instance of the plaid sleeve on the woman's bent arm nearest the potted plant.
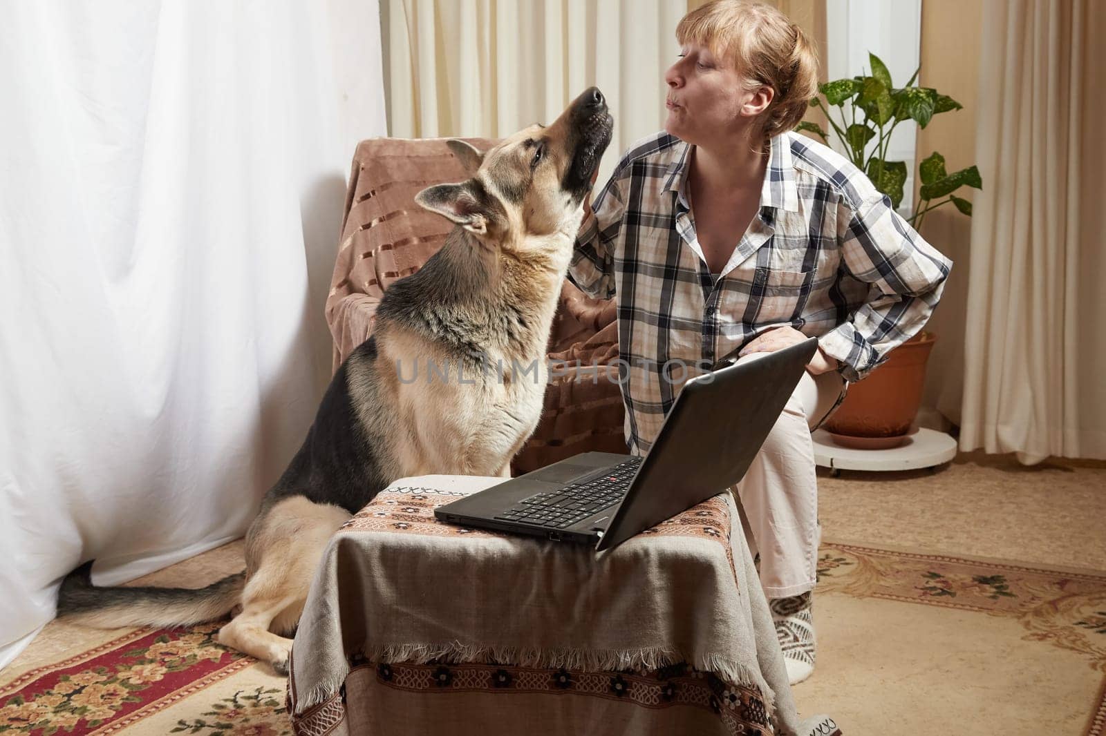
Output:
[[851,381],[867,376],[921,330],[941,298],[952,261],[922,240],[884,194],[858,209],[842,204],[838,240],[848,275],[870,284],[851,318],[818,338]]

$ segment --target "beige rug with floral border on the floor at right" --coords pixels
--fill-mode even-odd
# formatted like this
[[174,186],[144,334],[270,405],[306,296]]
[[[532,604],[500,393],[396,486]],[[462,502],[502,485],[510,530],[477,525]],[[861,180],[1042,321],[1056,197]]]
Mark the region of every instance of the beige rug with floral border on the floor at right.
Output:
[[846,734],[1106,734],[1106,572],[823,544],[815,601]]

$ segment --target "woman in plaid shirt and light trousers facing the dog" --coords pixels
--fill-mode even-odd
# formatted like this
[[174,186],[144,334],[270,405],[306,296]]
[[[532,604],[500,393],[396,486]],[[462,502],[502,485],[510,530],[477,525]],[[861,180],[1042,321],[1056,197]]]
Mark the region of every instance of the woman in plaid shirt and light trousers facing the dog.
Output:
[[[618,297],[626,438],[645,453],[682,380],[808,336],[818,351],[738,485],[792,683],[814,667],[811,430],[929,318],[951,262],[844,157],[792,130],[816,92],[803,32],[716,0],[676,29],[665,132],[585,209],[570,277]],[[757,387],[750,387],[757,390]]]

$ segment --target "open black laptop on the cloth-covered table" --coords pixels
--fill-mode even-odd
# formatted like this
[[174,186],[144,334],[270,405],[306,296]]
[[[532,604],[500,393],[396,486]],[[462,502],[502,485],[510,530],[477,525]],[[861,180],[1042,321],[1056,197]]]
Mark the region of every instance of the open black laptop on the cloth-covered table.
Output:
[[817,338],[688,380],[644,456],[585,452],[435,511],[447,524],[611,549],[744,476]]

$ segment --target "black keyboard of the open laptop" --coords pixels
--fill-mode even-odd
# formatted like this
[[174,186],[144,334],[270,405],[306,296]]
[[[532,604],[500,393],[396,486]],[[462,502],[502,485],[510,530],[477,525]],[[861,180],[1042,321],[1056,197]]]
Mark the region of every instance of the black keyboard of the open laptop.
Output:
[[570,483],[559,491],[530,496],[495,518],[549,529],[565,529],[622,501],[640,464],[641,458],[630,458],[606,469],[598,477],[585,476],[584,481]]

